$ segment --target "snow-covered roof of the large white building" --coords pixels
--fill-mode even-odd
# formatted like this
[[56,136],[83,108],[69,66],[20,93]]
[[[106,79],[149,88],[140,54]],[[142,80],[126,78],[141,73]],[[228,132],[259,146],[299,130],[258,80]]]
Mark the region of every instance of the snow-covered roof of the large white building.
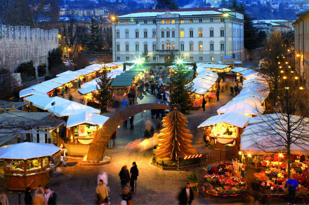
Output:
[[129,14],[118,16],[117,18],[137,18],[137,17],[156,17],[157,15],[163,15],[166,12],[170,14],[179,14],[180,16],[194,16],[194,15],[222,15],[222,11],[210,7],[204,8],[183,8],[183,9],[145,9],[134,11]]

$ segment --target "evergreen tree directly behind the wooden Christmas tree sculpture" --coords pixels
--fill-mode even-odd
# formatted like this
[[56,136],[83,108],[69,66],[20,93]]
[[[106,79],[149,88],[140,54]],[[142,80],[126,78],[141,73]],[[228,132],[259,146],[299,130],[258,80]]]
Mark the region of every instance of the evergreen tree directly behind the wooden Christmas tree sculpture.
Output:
[[180,111],[182,113],[191,110],[194,102],[194,96],[192,95],[194,90],[193,82],[191,79],[188,79],[189,75],[190,70],[180,66],[170,76],[171,90],[169,98],[172,103],[176,103],[181,107]]

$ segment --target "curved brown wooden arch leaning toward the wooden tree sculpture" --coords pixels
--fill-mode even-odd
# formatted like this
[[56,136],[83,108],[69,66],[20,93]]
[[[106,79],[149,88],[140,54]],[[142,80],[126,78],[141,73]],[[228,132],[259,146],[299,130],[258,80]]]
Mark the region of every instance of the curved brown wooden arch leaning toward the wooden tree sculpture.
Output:
[[165,104],[159,103],[148,103],[148,104],[138,104],[131,107],[127,107],[111,118],[109,118],[98,130],[93,138],[90,148],[87,154],[87,161],[102,161],[105,153],[105,149],[108,144],[108,140],[115,132],[115,130],[120,126],[125,120],[129,119],[129,117],[136,115],[145,110],[155,110],[155,109],[168,109],[171,107]]

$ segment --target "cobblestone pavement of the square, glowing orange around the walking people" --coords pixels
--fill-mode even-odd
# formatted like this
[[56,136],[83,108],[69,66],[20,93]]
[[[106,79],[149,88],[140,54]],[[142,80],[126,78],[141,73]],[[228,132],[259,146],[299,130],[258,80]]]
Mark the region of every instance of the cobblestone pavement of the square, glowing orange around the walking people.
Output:
[[[206,104],[206,111],[201,107],[191,111],[188,118],[188,129],[193,134],[193,145],[201,153],[212,150],[212,146],[206,148],[202,139],[203,131],[198,131],[197,126],[210,116],[217,115],[216,110],[229,102],[232,96],[227,92],[220,94],[220,102]],[[155,102],[155,96],[144,92],[138,97],[138,103]],[[115,110],[116,111],[116,110]],[[113,115],[113,112],[104,114]],[[205,171],[201,168],[190,171],[163,171],[152,165],[150,160],[152,150],[143,152],[128,152],[125,146],[133,140],[142,138],[145,131],[145,120],[150,118],[150,111],[142,112],[134,116],[134,130],[124,129],[122,126],[117,129],[116,146],[108,149],[106,155],[112,157],[110,164],[101,166],[80,166],[81,158],[71,157],[67,159],[66,168],[58,168],[57,173],[51,173],[48,186],[55,191],[58,196],[58,204],[95,204],[95,188],[97,175],[100,170],[104,170],[109,176],[110,198],[112,204],[120,204],[120,180],[119,171],[123,165],[128,165],[129,169],[135,161],[139,169],[137,180],[137,192],[133,194],[134,204],[178,204],[178,194],[187,182],[187,176],[196,172],[202,176]],[[155,119],[151,119],[153,122]],[[129,125],[128,125],[129,128]],[[247,176],[253,176],[253,172],[248,171]],[[3,178],[0,179],[3,184]],[[202,184],[202,182],[201,182]],[[129,186],[129,185],[128,185]],[[6,188],[0,186],[0,192],[8,192]],[[7,193],[11,204],[18,204],[18,192]],[[23,197],[22,197],[23,202]],[[220,197],[205,198],[200,191],[198,199],[193,204],[253,204],[254,197]]]

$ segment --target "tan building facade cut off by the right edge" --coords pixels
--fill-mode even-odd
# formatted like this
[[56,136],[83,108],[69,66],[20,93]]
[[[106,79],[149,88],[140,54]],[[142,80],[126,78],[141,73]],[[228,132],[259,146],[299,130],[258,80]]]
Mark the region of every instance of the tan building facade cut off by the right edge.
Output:
[[296,70],[309,83],[309,11],[297,15],[294,25]]

